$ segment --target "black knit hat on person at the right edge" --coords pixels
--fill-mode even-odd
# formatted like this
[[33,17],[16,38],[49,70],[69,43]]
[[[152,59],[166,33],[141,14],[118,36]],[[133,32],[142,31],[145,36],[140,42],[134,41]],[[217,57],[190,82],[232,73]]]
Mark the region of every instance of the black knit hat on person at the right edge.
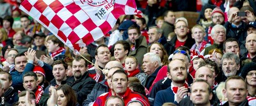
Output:
[[256,63],[255,62],[250,62],[248,64],[245,64],[245,66],[242,68],[242,73],[241,76],[243,78],[246,77],[247,73],[250,71],[256,70]]

